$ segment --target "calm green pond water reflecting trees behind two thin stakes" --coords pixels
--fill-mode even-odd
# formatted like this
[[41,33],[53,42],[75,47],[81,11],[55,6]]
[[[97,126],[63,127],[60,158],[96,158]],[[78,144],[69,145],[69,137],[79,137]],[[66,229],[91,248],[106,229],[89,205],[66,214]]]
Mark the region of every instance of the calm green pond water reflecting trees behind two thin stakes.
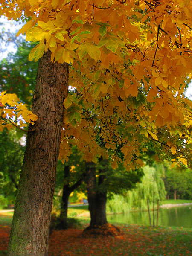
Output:
[[[127,212],[124,214],[107,215],[108,221],[124,222],[127,224],[143,224],[150,226],[148,212]],[[151,222],[153,225],[153,212],[151,211]],[[157,211],[155,211],[155,226],[157,222]],[[186,227],[192,228],[192,205],[160,208],[158,226]]]

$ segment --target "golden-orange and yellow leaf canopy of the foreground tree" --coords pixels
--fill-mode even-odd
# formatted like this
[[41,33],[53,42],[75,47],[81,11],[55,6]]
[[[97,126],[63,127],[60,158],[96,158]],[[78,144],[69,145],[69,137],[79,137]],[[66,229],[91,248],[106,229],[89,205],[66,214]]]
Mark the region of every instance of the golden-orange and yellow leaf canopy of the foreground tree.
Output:
[[[70,138],[88,161],[111,155],[115,168],[123,156],[125,165],[137,168],[150,141],[156,159],[192,164],[192,102],[183,95],[192,70],[190,0],[0,4],[0,14],[8,19],[29,17],[18,32],[38,42],[29,60],[38,61],[49,49],[53,62],[70,64],[69,85],[75,91],[64,100],[60,159],[70,154]],[[4,107],[17,102],[10,104],[11,97],[1,96]],[[7,108],[3,111],[4,118],[11,117]],[[24,110],[21,114],[26,122],[37,119]]]

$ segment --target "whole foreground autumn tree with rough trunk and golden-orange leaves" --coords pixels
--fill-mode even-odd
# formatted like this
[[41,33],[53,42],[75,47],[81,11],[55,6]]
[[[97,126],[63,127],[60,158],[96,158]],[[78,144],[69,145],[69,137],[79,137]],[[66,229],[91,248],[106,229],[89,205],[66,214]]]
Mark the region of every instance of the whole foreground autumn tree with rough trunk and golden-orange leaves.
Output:
[[[29,17],[19,33],[38,42],[29,60],[39,60],[33,113],[23,109],[15,95],[3,92],[0,97],[3,118],[15,116],[15,125],[21,128],[26,124],[17,124],[18,113],[31,122],[9,255],[47,255],[58,151],[60,147],[64,162],[70,154],[69,140],[75,139],[88,162],[101,156],[108,159],[105,148],[113,150],[119,144],[127,169],[138,168],[143,143],[152,141],[157,158],[172,157],[173,163],[191,165],[192,103],[183,93],[192,70],[192,3],[0,0],[0,4],[0,14],[9,19]],[[76,88],[73,96],[67,96],[68,75],[69,85]],[[3,129],[3,119],[0,124]],[[104,149],[96,142],[96,128]],[[113,168],[118,161],[114,154]]]

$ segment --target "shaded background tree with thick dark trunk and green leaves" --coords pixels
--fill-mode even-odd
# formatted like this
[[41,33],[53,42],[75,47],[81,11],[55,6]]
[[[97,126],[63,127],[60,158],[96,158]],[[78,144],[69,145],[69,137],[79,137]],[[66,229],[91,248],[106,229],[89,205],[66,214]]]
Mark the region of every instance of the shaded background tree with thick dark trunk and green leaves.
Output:
[[86,163],[87,197],[90,211],[90,226],[87,229],[102,226],[107,223],[107,198],[113,193],[125,195],[128,190],[136,187],[143,176],[142,169],[129,172],[123,164],[116,169],[111,167],[108,159],[99,158],[98,163]]

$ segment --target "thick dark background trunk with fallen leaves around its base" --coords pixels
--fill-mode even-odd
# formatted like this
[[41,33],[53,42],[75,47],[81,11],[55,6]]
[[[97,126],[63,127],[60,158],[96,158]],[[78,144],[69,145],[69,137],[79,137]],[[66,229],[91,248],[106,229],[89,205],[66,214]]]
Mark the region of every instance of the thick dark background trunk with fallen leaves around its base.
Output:
[[[102,180],[98,182],[98,185],[100,185],[99,183],[101,184]],[[96,169],[94,163],[87,163],[87,197],[91,218],[90,226],[87,229],[108,223],[106,218],[107,191],[105,189],[99,191],[96,185]]]

